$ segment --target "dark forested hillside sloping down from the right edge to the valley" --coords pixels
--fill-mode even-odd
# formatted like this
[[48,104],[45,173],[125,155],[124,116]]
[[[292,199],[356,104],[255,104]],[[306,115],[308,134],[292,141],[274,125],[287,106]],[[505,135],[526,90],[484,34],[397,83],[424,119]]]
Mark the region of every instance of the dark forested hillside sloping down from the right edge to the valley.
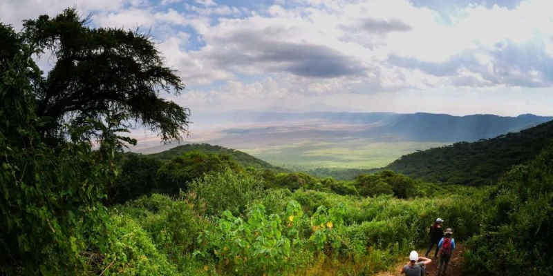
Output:
[[397,159],[386,169],[423,181],[489,185],[512,166],[534,159],[552,139],[553,121],[549,121],[492,139],[414,152]]

